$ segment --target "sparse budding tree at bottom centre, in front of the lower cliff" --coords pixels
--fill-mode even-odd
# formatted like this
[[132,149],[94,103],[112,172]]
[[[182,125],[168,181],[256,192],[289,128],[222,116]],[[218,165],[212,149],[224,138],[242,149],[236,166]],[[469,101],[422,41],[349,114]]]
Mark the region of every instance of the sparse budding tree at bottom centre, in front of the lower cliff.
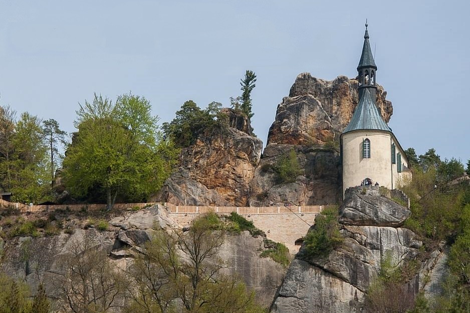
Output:
[[186,232],[159,230],[131,271],[127,311],[261,313],[243,283],[220,273],[223,238],[215,213],[196,218]]

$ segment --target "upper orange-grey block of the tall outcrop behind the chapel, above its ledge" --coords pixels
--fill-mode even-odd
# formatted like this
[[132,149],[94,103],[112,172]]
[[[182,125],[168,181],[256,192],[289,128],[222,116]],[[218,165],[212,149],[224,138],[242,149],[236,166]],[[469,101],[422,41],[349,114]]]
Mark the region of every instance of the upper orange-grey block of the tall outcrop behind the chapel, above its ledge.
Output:
[[[291,87],[289,96],[278,105],[276,118],[268,135],[270,143],[323,145],[339,139],[359,101],[358,81],[338,76],[331,81],[301,73]],[[377,88],[377,107],[388,122],[393,113],[387,92]]]

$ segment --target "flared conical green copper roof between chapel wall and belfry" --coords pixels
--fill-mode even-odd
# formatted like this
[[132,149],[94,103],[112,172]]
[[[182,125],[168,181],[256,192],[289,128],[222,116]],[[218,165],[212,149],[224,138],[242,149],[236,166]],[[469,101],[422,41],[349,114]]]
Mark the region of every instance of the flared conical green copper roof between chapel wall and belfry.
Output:
[[364,93],[357,104],[353,117],[343,130],[343,133],[359,129],[392,131],[392,129],[387,126],[387,123],[384,122],[382,116],[380,116],[379,110],[377,106],[375,106],[368,88],[364,89]]

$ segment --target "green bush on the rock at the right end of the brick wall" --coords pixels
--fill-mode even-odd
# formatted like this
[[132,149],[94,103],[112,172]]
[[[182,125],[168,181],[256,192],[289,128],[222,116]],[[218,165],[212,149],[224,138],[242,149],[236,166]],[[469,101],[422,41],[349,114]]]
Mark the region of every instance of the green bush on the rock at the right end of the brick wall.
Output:
[[315,217],[313,229],[307,232],[304,239],[307,256],[328,255],[332,249],[340,245],[344,238],[338,223],[338,208],[327,207]]

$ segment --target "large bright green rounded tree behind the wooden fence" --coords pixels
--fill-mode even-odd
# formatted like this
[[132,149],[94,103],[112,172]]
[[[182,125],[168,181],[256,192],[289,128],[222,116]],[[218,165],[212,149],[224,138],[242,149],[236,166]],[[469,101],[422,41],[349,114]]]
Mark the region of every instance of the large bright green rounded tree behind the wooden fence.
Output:
[[95,94],[77,111],[74,134],[63,161],[67,189],[78,197],[145,200],[158,190],[176,162],[176,151],[156,130],[150,102],[131,93],[116,104]]

